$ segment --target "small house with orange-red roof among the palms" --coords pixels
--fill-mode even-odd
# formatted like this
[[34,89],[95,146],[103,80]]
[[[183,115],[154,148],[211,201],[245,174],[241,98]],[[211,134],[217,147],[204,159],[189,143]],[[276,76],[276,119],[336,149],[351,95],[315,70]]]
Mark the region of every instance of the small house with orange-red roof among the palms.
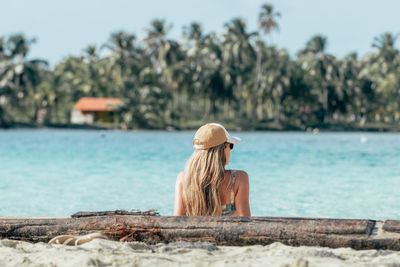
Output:
[[112,123],[116,115],[115,109],[120,104],[119,98],[82,97],[72,108],[71,123]]

